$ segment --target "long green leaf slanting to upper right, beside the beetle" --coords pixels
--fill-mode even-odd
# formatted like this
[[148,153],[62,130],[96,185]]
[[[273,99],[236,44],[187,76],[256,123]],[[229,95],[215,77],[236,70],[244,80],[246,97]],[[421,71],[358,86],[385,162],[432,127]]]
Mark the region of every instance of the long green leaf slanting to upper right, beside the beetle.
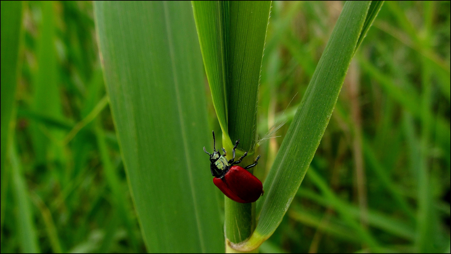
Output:
[[343,7],[263,185],[266,193],[257,202],[257,228],[235,249],[257,248],[290,206],[331,117],[370,5],[371,1],[348,1]]

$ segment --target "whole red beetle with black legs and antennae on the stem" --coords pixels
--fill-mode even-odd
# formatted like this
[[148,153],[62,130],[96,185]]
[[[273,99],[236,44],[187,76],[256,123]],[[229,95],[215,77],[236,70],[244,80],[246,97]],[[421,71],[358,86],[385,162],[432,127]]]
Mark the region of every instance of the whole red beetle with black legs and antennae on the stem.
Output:
[[224,152],[222,155],[215,148],[215,132],[213,131],[213,154],[207,152],[205,147],[203,151],[210,155],[210,170],[212,171],[213,183],[226,195],[229,199],[232,199],[238,203],[252,203],[257,201],[261,195],[263,195],[263,185],[257,177],[252,175],[246,169],[257,165],[257,161],[260,155],[255,159],[254,163],[246,166],[236,166],[239,164],[248,152],[245,152],[243,156],[239,157],[235,162],[235,149],[239,144],[235,142],[233,147],[233,158],[228,161],[226,158],[226,150],[222,148]]

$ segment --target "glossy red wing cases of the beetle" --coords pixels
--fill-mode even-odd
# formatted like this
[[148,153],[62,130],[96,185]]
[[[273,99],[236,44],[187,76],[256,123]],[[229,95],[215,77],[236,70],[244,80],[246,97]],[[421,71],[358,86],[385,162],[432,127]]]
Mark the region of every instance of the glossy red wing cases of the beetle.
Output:
[[223,179],[215,177],[213,183],[235,202],[252,203],[263,193],[262,182],[243,167],[231,166]]

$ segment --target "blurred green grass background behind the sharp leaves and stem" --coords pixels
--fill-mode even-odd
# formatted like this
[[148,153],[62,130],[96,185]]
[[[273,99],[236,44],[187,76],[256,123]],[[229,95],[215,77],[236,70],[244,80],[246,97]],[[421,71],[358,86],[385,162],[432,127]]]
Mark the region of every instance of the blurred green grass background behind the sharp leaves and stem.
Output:
[[[343,4],[272,2],[259,136],[285,125],[258,148],[261,180]],[[105,97],[92,2],[27,1],[22,8],[15,132],[2,165],[1,252],[145,252]],[[3,2],[1,11],[3,31]],[[3,47],[2,37],[2,58]],[[367,251],[337,212],[345,211],[389,250],[449,253],[449,66],[449,1],[384,3],[313,158],[317,174],[306,175],[260,252]],[[199,85],[210,129],[220,133],[208,85]],[[10,104],[2,95],[2,114]],[[126,202],[116,201],[120,190]]]

